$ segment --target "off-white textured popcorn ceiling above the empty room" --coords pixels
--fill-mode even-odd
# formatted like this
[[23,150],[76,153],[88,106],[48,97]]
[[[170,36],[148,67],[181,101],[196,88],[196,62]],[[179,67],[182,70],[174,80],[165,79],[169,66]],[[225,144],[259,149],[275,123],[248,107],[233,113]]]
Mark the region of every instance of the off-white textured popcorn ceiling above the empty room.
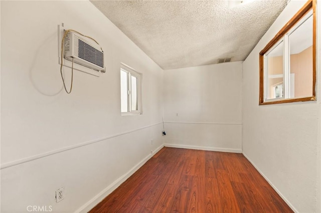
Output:
[[91,0],[163,69],[244,60],[287,0]]

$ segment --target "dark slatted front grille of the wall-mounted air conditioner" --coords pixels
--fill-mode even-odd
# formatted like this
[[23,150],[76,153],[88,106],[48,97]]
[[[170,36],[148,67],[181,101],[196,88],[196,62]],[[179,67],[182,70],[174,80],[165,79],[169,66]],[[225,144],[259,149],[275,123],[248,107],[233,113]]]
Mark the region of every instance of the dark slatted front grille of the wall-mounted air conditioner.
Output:
[[104,67],[104,53],[78,38],[78,57]]

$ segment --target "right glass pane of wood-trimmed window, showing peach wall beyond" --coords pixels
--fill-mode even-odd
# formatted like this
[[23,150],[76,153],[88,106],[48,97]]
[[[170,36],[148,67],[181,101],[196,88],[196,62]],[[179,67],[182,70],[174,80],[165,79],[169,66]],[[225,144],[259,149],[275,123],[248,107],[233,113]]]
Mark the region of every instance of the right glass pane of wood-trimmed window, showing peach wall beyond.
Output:
[[[297,27],[297,25],[295,25],[294,28],[295,27]],[[312,37],[312,15],[289,35],[290,97],[312,96]]]

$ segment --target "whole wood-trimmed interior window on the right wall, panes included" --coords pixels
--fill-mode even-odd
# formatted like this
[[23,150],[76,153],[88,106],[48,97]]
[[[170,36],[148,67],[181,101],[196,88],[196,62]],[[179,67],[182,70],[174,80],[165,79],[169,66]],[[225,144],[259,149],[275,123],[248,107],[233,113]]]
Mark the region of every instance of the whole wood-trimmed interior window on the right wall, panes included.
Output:
[[307,1],[260,52],[260,105],[315,100],[314,4]]

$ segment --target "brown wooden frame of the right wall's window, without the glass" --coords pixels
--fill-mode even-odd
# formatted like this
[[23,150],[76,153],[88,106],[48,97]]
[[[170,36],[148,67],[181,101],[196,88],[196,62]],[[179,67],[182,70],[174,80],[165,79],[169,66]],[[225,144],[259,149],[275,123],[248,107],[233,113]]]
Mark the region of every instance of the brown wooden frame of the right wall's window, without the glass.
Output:
[[[316,15],[315,15],[315,0],[308,0],[303,7],[280,29],[280,31],[267,43],[267,45],[259,53],[259,105],[266,104],[276,104],[276,103],[288,103],[288,102],[297,102],[297,101],[309,101],[315,100],[315,83],[316,83]],[[297,97],[297,98],[281,98],[281,99],[270,99],[266,100],[266,91],[264,88],[265,79],[265,70],[266,64],[265,54],[271,51],[278,43],[286,39],[286,33],[289,32],[292,27],[298,23],[308,12],[312,10],[313,18],[313,32],[312,32],[312,95],[307,97]],[[285,52],[287,54],[287,52]],[[288,53],[289,54],[289,53]],[[283,55],[284,57],[284,55]],[[289,60],[283,61],[288,63]],[[285,73],[283,72],[285,75]],[[286,79],[284,79],[286,80]],[[287,89],[287,88],[284,88]]]

